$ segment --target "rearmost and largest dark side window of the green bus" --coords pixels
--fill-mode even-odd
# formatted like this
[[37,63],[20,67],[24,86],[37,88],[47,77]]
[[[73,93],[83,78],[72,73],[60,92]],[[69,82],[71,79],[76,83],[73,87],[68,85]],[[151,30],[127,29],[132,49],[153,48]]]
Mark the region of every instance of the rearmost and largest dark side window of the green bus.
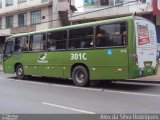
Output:
[[127,42],[127,24],[113,23],[96,27],[96,46],[124,46]]

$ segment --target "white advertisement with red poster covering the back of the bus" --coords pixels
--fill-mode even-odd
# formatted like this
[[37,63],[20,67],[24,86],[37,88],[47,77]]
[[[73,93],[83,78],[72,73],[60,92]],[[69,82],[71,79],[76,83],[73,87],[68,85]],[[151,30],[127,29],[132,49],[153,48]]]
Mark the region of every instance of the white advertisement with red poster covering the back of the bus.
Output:
[[138,67],[156,67],[157,36],[155,26],[148,21],[135,20]]

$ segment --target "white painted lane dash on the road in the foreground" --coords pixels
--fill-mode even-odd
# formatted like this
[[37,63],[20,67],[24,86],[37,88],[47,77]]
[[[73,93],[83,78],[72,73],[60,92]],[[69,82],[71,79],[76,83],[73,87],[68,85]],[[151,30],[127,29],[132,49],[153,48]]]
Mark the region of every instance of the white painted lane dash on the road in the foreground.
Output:
[[52,106],[52,107],[57,107],[57,108],[62,108],[62,109],[66,109],[66,110],[72,110],[72,111],[76,111],[76,112],[81,112],[81,113],[85,113],[85,114],[96,114],[96,113],[94,113],[94,112],[90,112],[90,111],[86,111],[86,110],[81,110],[81,109],[66,107],[66,106],[57,105],[57,104],[52,104],[52,103],[47,103],[47,102],[41,102],[41,104],[48,105],[48,106]]

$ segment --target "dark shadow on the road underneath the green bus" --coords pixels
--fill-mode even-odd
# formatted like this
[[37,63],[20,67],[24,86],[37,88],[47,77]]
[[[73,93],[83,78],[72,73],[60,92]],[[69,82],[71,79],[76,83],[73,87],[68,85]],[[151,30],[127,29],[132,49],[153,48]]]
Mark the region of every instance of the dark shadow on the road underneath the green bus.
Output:
[[[18,80],[16,77],[10,77],[11,79]],[[22,81],[22,80],[21,80]],[[48,78],[48,77],[30,77],[29,79],[25,79],[23,81],[27,82],[39,82],[39,83],[47,83],[47,84],[58,84],[58,85],[66,85],[66,86],[74,86],[76,87],[72,80],[69,79],[60,79],[60,78]],[[141,91],[149,88],[153,88],[155,85],[150,83],[140,83],[140,82],[131,82],[131,81],[93,81],[89,88],[95,89],[107,89],[107,90],[122,90],[122,91]]]

